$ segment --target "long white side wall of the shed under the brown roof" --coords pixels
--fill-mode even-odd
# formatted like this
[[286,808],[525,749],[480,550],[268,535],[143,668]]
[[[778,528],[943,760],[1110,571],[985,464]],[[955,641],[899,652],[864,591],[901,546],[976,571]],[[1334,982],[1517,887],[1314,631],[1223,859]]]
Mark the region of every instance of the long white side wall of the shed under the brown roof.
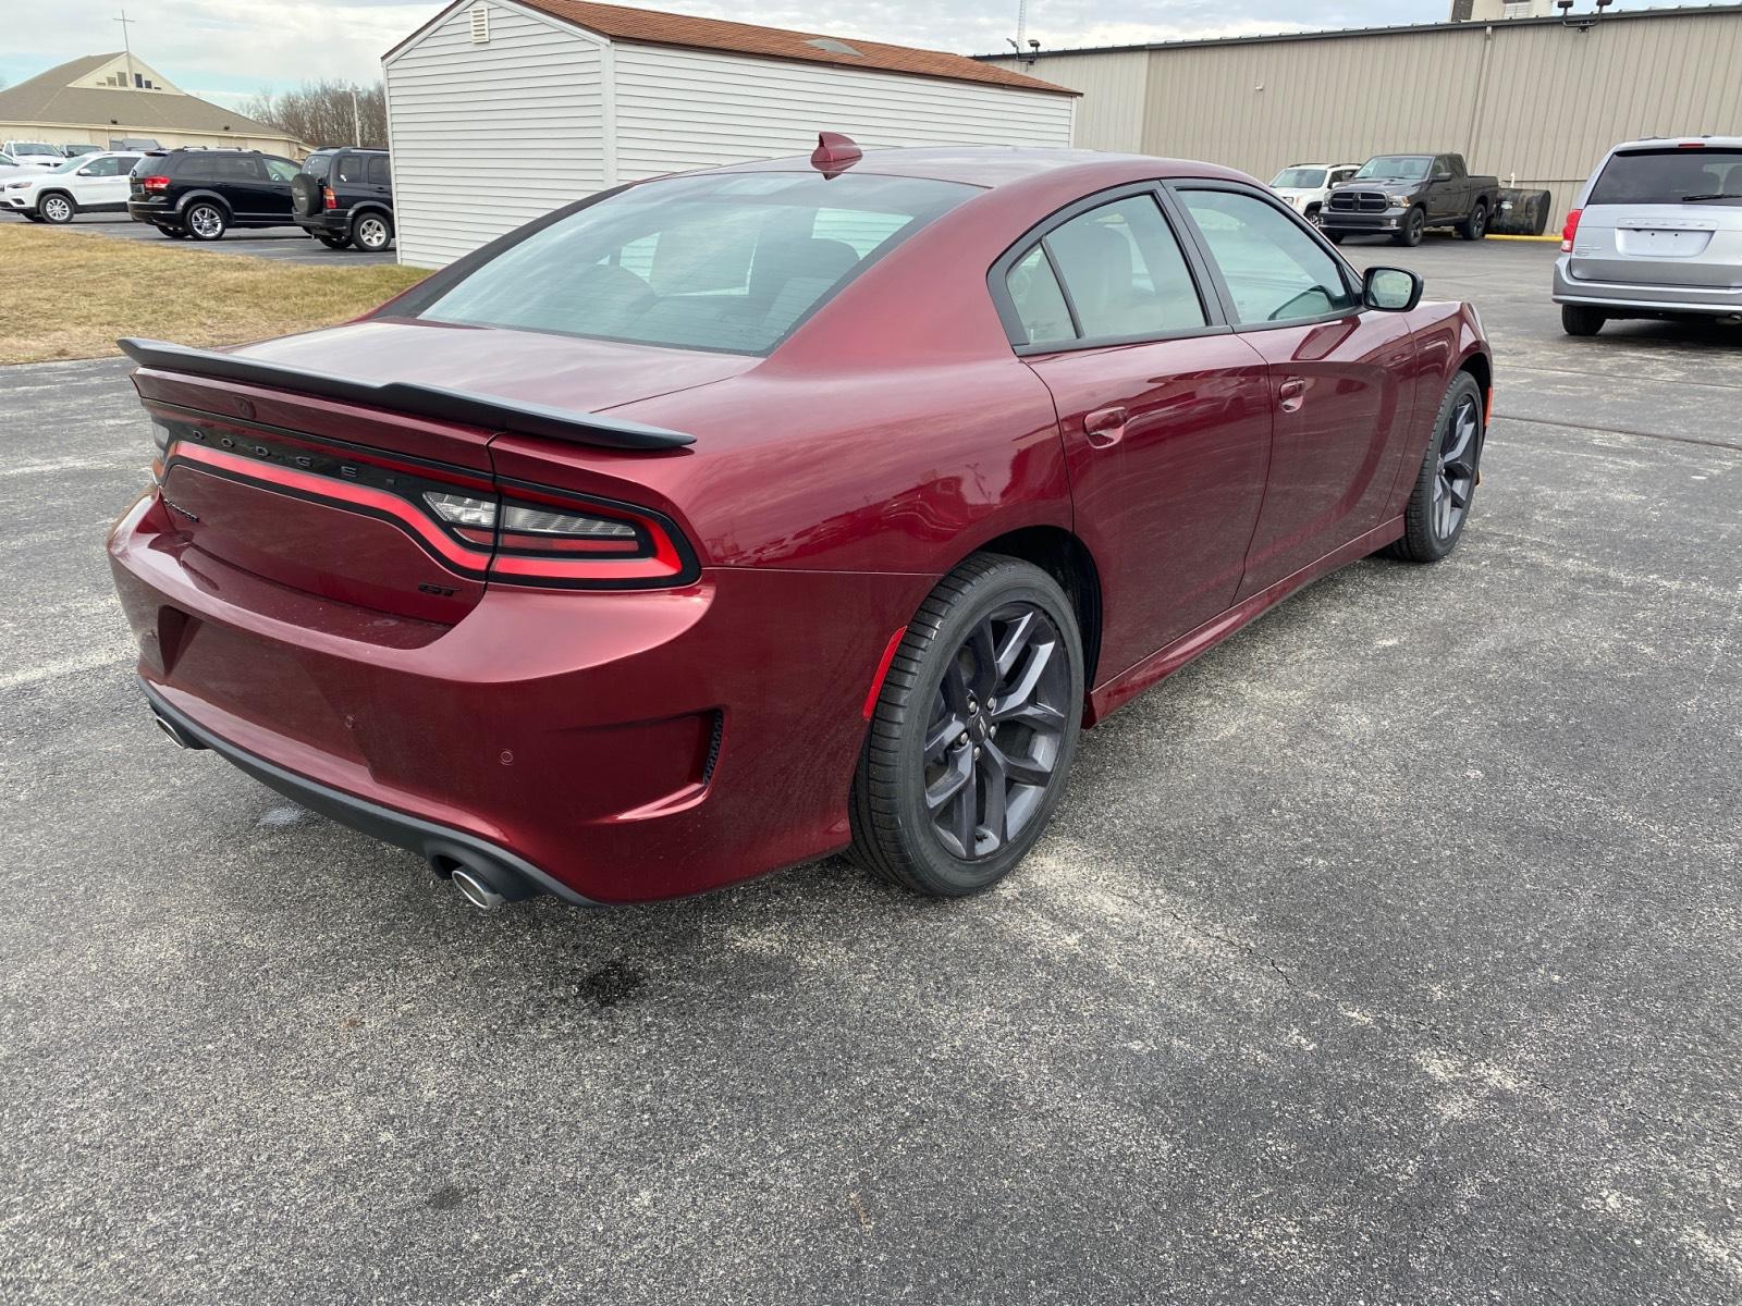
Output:
[[1073,98],[712,50],[613,45],[617,176],[639,181],[815,148],[1071,143]]

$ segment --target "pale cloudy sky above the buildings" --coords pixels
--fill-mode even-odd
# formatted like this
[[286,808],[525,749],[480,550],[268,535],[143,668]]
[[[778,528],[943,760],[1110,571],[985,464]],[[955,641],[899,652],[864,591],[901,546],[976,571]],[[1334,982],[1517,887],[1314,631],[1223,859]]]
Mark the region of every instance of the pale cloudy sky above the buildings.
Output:
[[[1697,3],[1698,0],[1685,0]],[[1716,2],[1716,0],[1714,0]],[[897,45],[989,54],[1016,35],[1017,0],[655,0],[732,17]],[[1648,7],[1624,0],[1620,9]],[[321,77],[373,80],[381,54],[442,9],[436,0],[3,0],[0,78],[7,85],[80,54],[118,50],[125,9],[132,50],[172,84],[237,106]],[[1028,35],[1043,47],[1127,45],[1188,37],[1444,21],[1449,0],[1030,0]],[[1578,0],[1590,9],[1590,0]]]

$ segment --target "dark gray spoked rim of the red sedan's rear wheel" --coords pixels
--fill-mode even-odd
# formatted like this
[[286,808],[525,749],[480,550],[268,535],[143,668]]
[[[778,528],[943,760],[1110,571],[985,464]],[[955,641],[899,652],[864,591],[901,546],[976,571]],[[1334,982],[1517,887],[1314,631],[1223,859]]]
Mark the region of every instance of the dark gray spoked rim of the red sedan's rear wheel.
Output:
[[979,862],[1019,838],[1059,778],[1070,658],[1040,608],[1007,603],[956,650],[925,726],[925,810],[944,850]]

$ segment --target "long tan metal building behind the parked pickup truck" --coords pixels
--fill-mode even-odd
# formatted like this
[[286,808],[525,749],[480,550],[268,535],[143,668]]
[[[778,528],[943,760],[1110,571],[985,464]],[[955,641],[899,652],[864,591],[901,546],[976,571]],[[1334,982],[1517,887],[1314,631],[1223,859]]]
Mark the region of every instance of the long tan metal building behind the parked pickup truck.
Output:
[[1742,134],[1742,5],[1611,10],[1589,31],[1514,17],[988,59],[1082,91],[1078,148],[1265,181],[1456,150],[1502,185],[1552,190],[1554,226],[1617,141]]

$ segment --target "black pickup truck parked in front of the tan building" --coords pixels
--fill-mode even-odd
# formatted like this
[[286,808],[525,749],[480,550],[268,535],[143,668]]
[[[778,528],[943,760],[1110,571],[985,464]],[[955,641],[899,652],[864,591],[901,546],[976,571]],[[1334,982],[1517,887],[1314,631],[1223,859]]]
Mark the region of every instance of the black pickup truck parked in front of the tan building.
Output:
[[1472,178],[1463,155],[1374,155],[1331,192],[1319,219],[1336,244],[1345,235],[1388,235],[1418,246],[1430,226],[1481,240],[1498,205],[1500,178]]

